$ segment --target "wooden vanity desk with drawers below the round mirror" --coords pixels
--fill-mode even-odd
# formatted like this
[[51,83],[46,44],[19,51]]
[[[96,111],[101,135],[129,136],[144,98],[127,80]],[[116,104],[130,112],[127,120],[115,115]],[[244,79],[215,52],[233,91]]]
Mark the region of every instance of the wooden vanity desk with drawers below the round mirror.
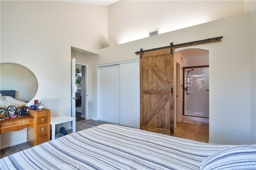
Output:
[[24,128],[28,128],[27,139],[31,145],[35,146],[50,141],[50,110],[29,109],[29,115],[0,121],[0,134]]

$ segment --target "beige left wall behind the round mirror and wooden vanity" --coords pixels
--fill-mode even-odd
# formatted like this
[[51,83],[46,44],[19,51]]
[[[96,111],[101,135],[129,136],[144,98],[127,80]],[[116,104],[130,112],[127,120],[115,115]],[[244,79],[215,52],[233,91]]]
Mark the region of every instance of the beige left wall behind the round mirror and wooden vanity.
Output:
[[[107,6],[56,1],[0,1],[1,63],[19,63],[38,80],[34,99],[51,116],[71,115],[71,46],[108,46]],[[1,147],[26,140],[26,131],[1,135]]]

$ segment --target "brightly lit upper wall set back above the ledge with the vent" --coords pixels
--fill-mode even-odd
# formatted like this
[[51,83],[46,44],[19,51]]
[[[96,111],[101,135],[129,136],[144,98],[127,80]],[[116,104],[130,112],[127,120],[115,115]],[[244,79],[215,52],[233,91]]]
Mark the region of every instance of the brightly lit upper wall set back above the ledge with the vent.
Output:
[[108,6],[111,45],[244,13],[244,1],[120,0]]

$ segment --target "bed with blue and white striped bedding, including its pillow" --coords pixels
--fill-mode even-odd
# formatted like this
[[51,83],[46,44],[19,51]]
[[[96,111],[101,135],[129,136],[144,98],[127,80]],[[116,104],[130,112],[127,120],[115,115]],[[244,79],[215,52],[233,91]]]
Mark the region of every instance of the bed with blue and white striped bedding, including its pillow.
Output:
[[255,169],[255,155],[256,145],[211,145],[104,124],[4,157],[0,168]]

